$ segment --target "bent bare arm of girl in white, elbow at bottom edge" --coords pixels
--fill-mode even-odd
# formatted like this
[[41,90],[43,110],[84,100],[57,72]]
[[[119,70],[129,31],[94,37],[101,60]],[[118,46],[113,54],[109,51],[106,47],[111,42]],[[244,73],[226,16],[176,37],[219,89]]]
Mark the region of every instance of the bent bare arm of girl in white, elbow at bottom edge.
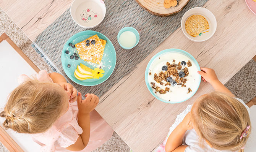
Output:
[[184,117],[182,122],[172,131],[165,144],[166,152],[184,152],[186,145],[182,145],[183,137],[187,130],[193,127],[190,120],[190,112]]

